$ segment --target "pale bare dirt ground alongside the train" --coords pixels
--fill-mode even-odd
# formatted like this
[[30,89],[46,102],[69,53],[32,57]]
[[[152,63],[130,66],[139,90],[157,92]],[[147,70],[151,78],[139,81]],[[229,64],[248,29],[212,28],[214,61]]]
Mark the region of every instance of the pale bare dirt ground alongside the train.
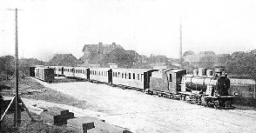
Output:
[[[100,109],[99,118],[133,132],[254,132],[256,111],[214,110],[203,106],[122,90],[105,84],[43,83]],[[93,109],[93,108],[92,108]]]

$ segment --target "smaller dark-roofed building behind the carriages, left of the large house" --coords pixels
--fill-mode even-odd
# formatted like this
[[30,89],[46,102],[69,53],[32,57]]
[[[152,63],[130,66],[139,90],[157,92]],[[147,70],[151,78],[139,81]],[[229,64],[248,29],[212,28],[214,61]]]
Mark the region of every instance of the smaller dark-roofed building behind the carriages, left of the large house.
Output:
[[76,66],[77,62],[77,58],[72,54],[55,54],[49,61],[49,64],[56,66]]

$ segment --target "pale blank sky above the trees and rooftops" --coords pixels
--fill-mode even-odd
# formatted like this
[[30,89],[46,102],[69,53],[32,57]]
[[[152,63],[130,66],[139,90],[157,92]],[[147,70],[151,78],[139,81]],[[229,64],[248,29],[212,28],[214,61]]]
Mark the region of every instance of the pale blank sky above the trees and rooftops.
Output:
[[180,23],[183,52],[256,49],[255,0],[1,0],[0,56],[15,53],[15,8],[19,57],[79,58],[84,44],[117,43],[178,58]]

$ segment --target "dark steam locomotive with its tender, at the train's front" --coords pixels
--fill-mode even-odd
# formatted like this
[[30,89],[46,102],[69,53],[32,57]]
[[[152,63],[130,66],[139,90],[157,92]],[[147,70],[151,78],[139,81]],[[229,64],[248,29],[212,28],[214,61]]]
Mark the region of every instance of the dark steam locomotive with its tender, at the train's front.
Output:
[[199,68],[193,74],[186,74],[185,70],[158,70],[152,72],[148,94],[158,94],[187,103],[211,106],[215,109],[233,109],[233,97],[229,95],[230,80],[225,68],[215,66],[213,70]]

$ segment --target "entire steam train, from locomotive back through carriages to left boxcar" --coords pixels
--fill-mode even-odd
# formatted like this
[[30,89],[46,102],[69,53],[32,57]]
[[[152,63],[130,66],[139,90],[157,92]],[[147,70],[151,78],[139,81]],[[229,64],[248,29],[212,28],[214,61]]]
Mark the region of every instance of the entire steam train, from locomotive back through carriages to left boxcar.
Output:
[[[50,69],[50,70],[49,70]],[[47,72],[39,72],[47,70]],[[106,83],[123,89],[141,90],[150,95],[184,100],[211,106],[216,109],[233,109],[232,101],[235,95],[229,95],[230,80],[224,67],[213,70],[199,68],[194,73],[186,74],[186,70],[165,69],[111,69],[49,66],[35,69],[37,78],[52,77],[52,74],[83,78],[93,83]],[[45,76],[41,76],[45,75]],[[50,75],[50,76],[46,76]],[[45,78],[49,81],[52,78]]]

